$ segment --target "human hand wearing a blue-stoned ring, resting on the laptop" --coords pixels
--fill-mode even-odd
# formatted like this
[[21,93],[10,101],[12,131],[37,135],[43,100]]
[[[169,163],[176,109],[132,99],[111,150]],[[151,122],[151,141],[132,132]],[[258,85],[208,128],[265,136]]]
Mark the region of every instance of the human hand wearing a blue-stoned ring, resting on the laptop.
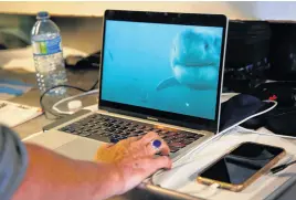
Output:
[[[152,146],[152,141],[158,143],[156,140],[161,141],[158,148]],[[156,157],[158,152],[162,156]],[[119,181],[116,182],[117,194],[121,194],[138,186],[157,170],[170,169],[169,152],[168,145],[157,134],[148,133],[141,138],[130,137],[115,145],[108,144],[101,147],[96,160],[115,166],[116,171],[113,172],[118,173],[119,177]]]

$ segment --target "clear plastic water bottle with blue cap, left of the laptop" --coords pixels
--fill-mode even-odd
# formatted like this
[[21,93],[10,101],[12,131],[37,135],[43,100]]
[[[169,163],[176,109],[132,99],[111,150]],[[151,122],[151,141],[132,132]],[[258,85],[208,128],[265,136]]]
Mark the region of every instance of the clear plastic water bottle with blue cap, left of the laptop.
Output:
[[[36,19],[31,32],[31,42],[38,85],[40,92],[44,93],[53,86],[66,84],[67,78],[59,27],[45,11],[39,12]],[[64,96],[65,93],[65,87],[57,87],[46,95]]]

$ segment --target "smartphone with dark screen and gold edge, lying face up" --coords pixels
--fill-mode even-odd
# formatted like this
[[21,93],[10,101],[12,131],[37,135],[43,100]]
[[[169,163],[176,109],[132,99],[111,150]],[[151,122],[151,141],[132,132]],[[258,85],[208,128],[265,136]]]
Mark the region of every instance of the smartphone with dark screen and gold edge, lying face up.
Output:
[[242,143],[203,169],[197,181],[218,183],[220,188],[239,192],[267,172],[285,155],[285,149],[281,147]]

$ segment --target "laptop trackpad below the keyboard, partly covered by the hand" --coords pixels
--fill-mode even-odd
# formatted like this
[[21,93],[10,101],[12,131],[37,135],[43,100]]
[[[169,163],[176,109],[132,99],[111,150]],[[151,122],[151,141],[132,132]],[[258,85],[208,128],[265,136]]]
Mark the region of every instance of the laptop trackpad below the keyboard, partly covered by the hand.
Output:
[[54,151],[73,159],[94,161],[97,148],[103,144],[102,141],[78,137],[57,147]]

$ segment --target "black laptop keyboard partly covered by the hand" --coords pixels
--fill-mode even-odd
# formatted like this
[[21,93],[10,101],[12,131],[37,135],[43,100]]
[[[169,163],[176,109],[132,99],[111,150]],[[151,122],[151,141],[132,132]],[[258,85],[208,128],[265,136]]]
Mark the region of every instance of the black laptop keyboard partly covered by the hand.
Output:
[[128,137],[141,136],[148,131],[155,131],[168,144],[171,152],[177,152],[203,136],[183,130],[158,128],[150,124],[101,114],[89,115],[86,118],[62,127],[60,130],[96,140],[107,138],[110,143],[118,143]]

